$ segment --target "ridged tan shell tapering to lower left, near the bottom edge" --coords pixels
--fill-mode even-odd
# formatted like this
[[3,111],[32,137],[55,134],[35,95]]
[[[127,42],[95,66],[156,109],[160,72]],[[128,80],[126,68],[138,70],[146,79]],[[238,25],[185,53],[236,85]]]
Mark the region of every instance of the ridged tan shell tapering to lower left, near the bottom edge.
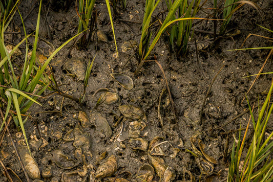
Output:
[[96,171],[96,178],[108,177],[114,174],[117,170],[117,157],[115,155],[110,155],[106,162],[99,165]]

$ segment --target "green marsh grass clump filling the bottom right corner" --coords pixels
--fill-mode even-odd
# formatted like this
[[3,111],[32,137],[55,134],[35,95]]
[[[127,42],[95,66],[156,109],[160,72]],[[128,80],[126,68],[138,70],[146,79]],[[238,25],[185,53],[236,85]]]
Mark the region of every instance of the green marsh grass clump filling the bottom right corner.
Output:
[[[238,143],[236,144],[234,141],[227,181],[271,181],[273,179],[273,160],[270,157],[273,151],[273,142],[271,140],[273,132],[265,135],[273,109],[273,104],[270,102],[272,89],[273,82],[271,82],[271,87],[261,109],[258,108],[257,120],[255,120],[253,110],[247,101],[250,118],[243,139],[241,139],[241,132],[239,132]],[[245,158],[242,158],[250,121],[253,124],[254,134],[249,148],[246,149],[247,154]]]

